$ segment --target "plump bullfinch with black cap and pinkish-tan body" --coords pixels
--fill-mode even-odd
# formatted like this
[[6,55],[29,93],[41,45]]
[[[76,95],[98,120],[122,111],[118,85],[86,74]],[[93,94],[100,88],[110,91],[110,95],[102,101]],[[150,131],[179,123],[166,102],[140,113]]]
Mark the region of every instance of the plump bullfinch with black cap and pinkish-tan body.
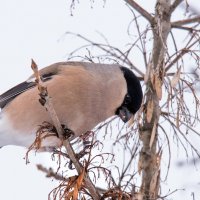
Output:
[[[138,77],[119,64],[58,62],[39,70],[41,80],[62,125],[74,137],[117,115],[124,123],[139,110],[143,92]],[[52,123],[39,103],[34,75],[0,95],[0,147],[30,147],[43,122]],[[41,148],[59,147],[58,137],[46,137]]]

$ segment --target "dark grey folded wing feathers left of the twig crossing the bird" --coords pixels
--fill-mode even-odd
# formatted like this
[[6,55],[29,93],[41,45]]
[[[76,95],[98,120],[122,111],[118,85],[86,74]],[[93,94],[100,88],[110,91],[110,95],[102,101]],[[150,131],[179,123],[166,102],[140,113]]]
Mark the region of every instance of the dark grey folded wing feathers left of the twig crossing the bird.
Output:
[[4,108],[11,100],[19,94],[36,86],[35,82],[24,81],[0,95],[0,108]]

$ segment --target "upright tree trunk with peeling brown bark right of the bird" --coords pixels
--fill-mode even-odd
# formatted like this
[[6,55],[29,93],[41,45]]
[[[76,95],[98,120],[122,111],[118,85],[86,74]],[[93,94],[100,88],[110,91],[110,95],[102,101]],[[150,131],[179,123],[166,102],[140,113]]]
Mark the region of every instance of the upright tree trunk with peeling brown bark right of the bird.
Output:
[[157,0],[152,23],[153,51],[149,63],[150,73],[146,82],[144,120],[140,128],[143,147],[139,165],[142,171],[141,194],[143,200],[157,199],[160,186],[160,153],[157,150],[157,125],[160,117],[159,102],[162,98],[162,82],[165,73],[167,37],[171,30],[170,0]]

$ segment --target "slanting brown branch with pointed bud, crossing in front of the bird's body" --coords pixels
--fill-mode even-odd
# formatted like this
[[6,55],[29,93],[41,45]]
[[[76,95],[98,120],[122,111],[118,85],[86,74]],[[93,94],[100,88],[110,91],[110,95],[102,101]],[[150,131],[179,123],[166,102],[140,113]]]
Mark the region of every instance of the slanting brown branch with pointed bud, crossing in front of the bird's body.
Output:
[[[80,175],[83,171],[83,167],[79,163],[78,159],[76,158],[76,154],[75,154],[69,140],[66,139],[65,136],[64,136],[64,131],[62,129],[62,126],[61,126],[61,123],[58,119],[56,111],[53,107],[51,99],[48,95],[47,88],[43,86],[42,80],[41,80],[40,75],[39,75],[38,67],[33,60],[32,60],[32,63],[31,63],[31,68],[34,71],[34,74],[35,74],[35,77],[36,77],[36,83],[38,85],[38,90],[40,91],[39,95],[41,97],[42,105],[47,109],[48,114],[50,115],[50,118],[53,122],[53,125],[55,126],[55,128],[57,130],[58,136],[61,139],[61,141],[63,142],[63,146],[65,147],[65,149],[66,149],[66,151],[69,155],[70,160],[73,162],[78,174]],[[92,181],[90,180],[90,178],[88,176],[85,176],[84,181],[85,181],[85,186],[89,190],[91,196],[94,199],[98,200],[100,198],[100,195],[98,194],[98,192],[97,192],[95,186],[93,185]]]

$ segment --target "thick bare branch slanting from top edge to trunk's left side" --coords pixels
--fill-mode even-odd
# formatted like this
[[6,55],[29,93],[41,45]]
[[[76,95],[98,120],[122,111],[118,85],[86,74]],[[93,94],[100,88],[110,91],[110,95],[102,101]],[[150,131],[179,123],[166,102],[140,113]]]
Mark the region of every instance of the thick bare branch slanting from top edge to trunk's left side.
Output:
[[129,4],[132,8],[137,10],[145,19],[147,19],[150,24],[153,24],[154,18],[149,14],[144,8],[142,8],[139,4],[137,4],[134,0],[125,0],[127,4]]

